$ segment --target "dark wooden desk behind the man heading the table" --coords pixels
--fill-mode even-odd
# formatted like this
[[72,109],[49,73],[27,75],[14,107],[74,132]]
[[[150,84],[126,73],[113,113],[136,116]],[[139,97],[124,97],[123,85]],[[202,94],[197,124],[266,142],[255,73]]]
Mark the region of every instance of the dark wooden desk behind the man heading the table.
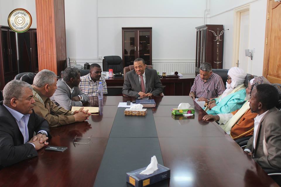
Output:
[[[195,75],[184,74],[179,79],[160,79],[164,86],[165,96],[188,96],[193,85]],[[122,95],[124,78],[105,79],[108,96]]]

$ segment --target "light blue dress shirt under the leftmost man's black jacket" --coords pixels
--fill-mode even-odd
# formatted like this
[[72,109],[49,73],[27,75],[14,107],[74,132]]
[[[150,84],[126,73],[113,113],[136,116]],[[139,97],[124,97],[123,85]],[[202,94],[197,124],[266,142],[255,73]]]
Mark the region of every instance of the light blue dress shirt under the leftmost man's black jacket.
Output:
[[[4,105],[4,104],[3,104]],[[16,122],[18,124],[18,128],[20,129],[20,132],[21,134],[23,135],[23,142],[24,143],[27,143],[29,141],[29,134],[28,134],[28,121],[29,121],[29,117],[30,117],[30,114],[25,114],[23,115],[22,113],[12,109],[12,108],[9,108],[8,106],[4,105],[7,110],[13,115],[13,117],[16,119]],[[24,123],[21,123],[21,121]],[[42,130],[43,131],[43,130]],[[41,132],[41,131],[39,131]],[[39,133],[38,132],[38,133]],[[47,134],[46,131],[43,131]],[[35,148],[35,145],[33,143],[31,143],[34,148]]]

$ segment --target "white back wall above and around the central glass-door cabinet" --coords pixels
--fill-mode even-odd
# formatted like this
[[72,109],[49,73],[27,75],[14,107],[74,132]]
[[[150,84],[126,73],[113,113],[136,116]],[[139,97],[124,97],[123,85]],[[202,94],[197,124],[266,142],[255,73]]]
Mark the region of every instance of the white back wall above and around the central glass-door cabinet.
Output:
[[103,56],[122,57],[122,27],[152,27],[153,64],[195,62],[195,27],[203,25],[205,0],[83,2],[65,1],[66,49],[72,62],[101,64]]

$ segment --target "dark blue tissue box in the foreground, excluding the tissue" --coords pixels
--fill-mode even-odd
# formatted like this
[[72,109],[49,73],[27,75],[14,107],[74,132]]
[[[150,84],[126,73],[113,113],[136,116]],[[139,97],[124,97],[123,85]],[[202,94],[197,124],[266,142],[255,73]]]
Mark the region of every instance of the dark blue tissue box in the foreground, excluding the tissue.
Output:
[[140,175],[140,172],[146,169],[140,168],[127,174],[127,182],[135,187],[149,186],[159,181],[170,178],[170,169],[157,164],[158,169],[150,175]]

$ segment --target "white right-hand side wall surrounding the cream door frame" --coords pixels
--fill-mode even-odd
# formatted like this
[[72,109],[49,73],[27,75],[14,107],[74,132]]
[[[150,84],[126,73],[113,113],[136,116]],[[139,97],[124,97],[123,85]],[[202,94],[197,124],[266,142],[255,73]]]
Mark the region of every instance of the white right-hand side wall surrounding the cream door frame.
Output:
[[[250,38],[249,48],[253,53],[252,70],[253,75],[261,76],[263,72],[263,54],[264,54],[264,38],[265,38],[265,21],[266,6],[265,0],[236,0],[236,1],[216,1],[211,0],[210,3],[210,24],[223,24],[224,28],[229,31],[224,35],[224,54],[223,68],[232,67],[233,55],[233,30],[234,30],[234,8],[250,4],[249,22],[250,22]],[[255,52],[253,49],[255,48]]]

